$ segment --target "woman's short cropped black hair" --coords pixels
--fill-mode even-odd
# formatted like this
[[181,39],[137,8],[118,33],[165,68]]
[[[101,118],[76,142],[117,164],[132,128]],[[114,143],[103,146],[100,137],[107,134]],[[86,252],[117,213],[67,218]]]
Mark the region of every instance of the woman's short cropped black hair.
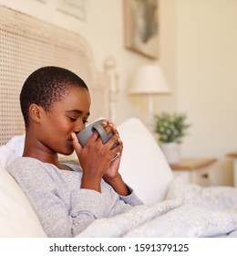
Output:
[[21,111],[25,126],[29,126],[29,106],[35,103],[49,111],[55,102],[61,101],[69,87],[88,90],[88,86],[75,73],[68,69],[47,66],[36,69],[26,79],[20,93]]

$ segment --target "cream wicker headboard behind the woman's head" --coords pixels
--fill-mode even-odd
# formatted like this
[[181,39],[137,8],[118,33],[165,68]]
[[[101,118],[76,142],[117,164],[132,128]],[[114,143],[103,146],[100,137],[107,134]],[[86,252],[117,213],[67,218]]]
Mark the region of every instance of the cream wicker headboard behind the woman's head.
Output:
[[43,66],[70,69],[88,84],[92,121],[108,116],[108,76],[98,73],[86,40],[65,29],[0,6],[0,144],[25,132],[19,92]]

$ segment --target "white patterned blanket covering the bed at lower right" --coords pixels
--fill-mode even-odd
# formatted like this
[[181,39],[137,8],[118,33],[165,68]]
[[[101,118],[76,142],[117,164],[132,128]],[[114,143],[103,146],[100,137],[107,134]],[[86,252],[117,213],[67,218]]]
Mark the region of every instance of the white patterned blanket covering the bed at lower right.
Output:
[[237,188],[199,187],[175,178],[159,204],[97,219],[77,237],[236,237],[236,230]]

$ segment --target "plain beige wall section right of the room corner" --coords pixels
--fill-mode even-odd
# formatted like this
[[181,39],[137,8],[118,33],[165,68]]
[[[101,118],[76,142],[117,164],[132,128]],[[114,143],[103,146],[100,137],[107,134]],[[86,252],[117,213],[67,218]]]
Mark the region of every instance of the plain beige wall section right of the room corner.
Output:
[[237,149],[236,10],[235,0],[176,1],[177,109],[192,123],[183,155],[219,157],[227,184],[225,155]]

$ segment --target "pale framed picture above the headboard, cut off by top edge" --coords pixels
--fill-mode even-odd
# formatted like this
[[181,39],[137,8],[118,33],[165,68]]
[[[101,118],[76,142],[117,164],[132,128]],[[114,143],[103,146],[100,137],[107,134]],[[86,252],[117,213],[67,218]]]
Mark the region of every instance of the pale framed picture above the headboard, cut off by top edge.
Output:
[[70,16],[85,19],[85,0],[57,0],[57,9]]

